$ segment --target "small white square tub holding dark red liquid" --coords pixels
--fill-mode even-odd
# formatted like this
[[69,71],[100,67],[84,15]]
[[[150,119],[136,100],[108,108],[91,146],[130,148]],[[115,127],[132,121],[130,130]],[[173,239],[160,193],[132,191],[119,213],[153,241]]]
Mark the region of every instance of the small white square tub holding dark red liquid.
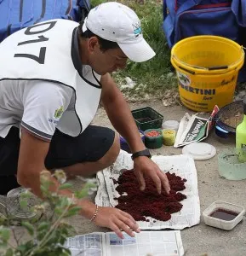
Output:
[[[223,210],[225,212],[235,212],[235,218],[224,220],[210,216],[213,212]],[[215,201],[203,211],[203,220],[206,225],[218,228],[220,230],[232,230],[242,219],[245,210],[241,206],[234,205],[226,201]]]

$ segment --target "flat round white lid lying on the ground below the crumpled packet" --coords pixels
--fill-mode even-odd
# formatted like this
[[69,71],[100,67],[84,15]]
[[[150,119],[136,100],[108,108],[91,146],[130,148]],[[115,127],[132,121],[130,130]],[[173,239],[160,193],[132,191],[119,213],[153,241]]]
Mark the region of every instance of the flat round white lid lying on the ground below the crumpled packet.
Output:
[[215,156],[216,148],[208,143],[192,143],[182,149],[182,154],[190,154],[194,160],[207,160]]

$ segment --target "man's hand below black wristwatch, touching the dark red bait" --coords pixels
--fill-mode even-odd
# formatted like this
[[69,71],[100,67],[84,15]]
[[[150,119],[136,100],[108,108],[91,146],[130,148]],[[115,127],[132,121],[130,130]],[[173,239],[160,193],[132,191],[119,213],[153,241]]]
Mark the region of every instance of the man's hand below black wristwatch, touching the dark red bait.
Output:
[[159,194],[162,188],[169,194],[170,186],[166,174],[148,157],[139,156],[134,159],[134,174],[140,183],[140,190],[146,189],[145,177],[151,177]]

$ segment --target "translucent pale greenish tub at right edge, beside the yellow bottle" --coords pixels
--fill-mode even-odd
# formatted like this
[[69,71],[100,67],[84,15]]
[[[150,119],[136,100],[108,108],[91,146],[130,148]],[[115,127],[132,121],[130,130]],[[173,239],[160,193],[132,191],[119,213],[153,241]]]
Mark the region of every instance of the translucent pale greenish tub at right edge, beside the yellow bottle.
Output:
[[220,177],[229,180],[242,180],[246,178],[246,162],[240,162],[238,156],[246,159],[246,152],[242,149],[232,148],[222,151],[218,155],[218,170]]

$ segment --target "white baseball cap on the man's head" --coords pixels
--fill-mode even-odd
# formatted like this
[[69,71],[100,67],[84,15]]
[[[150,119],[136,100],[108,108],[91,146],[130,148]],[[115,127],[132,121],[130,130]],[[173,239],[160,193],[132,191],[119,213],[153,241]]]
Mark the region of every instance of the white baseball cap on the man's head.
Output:
[[83,32],[87,28],[100,38],[116,42],[132,61],[147,61],[156,55],[143,38],[138,16],[122,3],[101,3],[91,9]]

